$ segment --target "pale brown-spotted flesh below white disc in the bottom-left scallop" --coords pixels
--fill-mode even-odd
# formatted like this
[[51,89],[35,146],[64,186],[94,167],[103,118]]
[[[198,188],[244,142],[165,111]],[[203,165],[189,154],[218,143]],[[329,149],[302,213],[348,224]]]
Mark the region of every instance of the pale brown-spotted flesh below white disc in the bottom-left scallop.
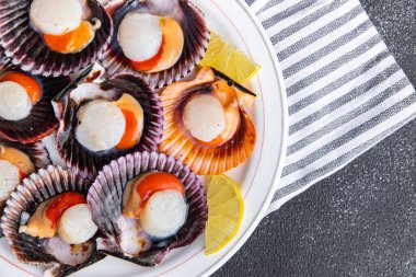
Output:
[[70,266],[85,263],[95,250],[92,241],[82,244],[70,244],[59,236],[46,239],[44,243],[48,254],[55,256],[59,263]]

